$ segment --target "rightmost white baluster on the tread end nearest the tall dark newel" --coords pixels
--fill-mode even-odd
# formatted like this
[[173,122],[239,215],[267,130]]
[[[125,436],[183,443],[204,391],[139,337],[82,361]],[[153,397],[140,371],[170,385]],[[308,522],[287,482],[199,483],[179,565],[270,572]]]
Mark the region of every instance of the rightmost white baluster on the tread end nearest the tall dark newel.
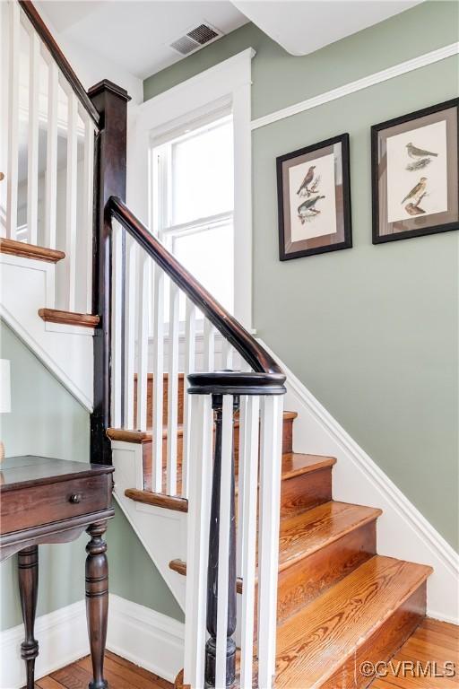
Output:
[[[139,250],[139,249],[138,249]],[[148,388],[148,305],[150,260],[141,250],[138,265],[139,299],[137,311],[137,428],[147,430]]]

